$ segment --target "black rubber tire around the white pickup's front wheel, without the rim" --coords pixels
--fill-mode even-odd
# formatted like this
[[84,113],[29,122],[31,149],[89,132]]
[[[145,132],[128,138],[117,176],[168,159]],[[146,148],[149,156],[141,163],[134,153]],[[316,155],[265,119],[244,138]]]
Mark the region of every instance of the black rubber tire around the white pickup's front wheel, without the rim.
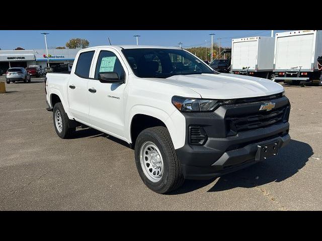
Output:
[[[164,162],[161,179],[152,182],[144,174],[140,163],[140,149],[145,142],[152,142],[160,151]],[[154,192],[164,194],[179,188],[184,183],[182,166],[166,127],[151,127],[143,130],[135,142],[135,163],[144,184]]]

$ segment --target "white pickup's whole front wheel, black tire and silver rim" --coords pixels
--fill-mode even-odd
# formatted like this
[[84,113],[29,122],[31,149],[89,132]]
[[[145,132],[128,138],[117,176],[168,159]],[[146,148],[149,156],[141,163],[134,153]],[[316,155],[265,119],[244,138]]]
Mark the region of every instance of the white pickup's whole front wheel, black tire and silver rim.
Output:
[[184,183],[182,167],[166,127],[143,130],[135,142],[135,163],[145,185],[167,193]]

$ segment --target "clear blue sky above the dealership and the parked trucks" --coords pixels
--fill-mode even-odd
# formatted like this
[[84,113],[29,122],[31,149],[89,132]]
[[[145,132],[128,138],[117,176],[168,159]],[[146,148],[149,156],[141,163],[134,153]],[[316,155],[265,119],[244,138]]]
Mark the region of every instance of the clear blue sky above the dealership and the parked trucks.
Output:
[[[287,30],[276,30],[285,32]],[[24,49],[45,48],[44,36],[40,33],[47,32],[48,48],[65,46],[71,38],[85,38],[90,41],[90,46],[108,45],[107,37],[113,45],[136,44],[133,35],[141,35],[139,44],[142,45],[163,45],[178,46],[182,42],[183,47],[210,46],[210,33],[216,34],[214,42],[218,43],[217,38],[221,38],[220,45],[223,47],[231,46],[232,38],[243,38],[252,36],[271,36],[270,30],[2,30],[0,31],[0,48],[2,50],[13,50],[16,47]]]

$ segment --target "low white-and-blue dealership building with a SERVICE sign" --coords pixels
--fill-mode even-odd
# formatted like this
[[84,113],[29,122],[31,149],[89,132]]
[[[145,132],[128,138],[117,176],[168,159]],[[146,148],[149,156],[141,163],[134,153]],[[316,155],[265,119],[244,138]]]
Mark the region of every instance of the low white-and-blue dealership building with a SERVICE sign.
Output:
[[77,49],[46,49],[34,50],[0,50],[0,69],[6,71],[11,67],[29,67],[40,65],[43,68],[59,64],[72,64],[80,48]]

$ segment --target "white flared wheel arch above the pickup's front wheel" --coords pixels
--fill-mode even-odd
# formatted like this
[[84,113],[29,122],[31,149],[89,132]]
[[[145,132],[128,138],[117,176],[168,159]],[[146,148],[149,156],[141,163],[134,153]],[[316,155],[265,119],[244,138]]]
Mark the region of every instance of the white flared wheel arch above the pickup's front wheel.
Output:
[[175,149],[184,146],[186,120],[185,117],[179,111],[174,110],[169,115],[166,111],[156,107],[151,107],[148,105],[134,105],[130,109],[129,116],[127,118],[128,123],[126,124],[126,135],[128,140],[131,140],[131,123],[134,115],[136,114],[145,114],[159,119],[166,125]]

